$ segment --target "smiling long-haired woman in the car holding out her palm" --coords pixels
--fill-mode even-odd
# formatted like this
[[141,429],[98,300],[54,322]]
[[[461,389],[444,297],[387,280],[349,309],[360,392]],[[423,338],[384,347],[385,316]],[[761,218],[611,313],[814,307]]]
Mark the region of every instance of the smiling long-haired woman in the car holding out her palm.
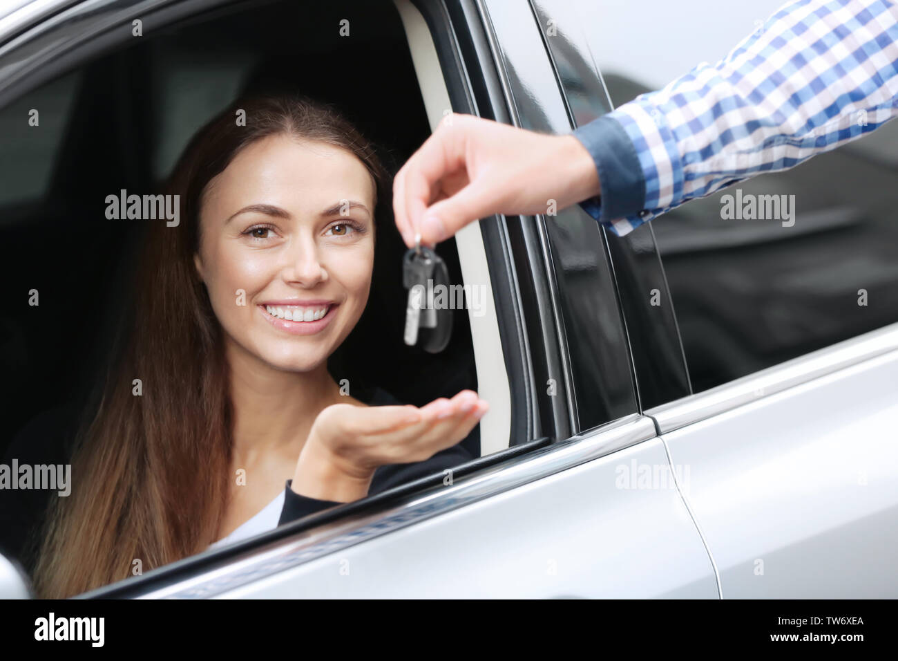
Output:
[[182,221],[149,228],[72,495],[48,516],[41,596],[451,468],[487,409],[470,390],[365,402],[328,371],[368,303],[389,190],[374,147],[330,107],[240,100],[190,141],[168,188]]

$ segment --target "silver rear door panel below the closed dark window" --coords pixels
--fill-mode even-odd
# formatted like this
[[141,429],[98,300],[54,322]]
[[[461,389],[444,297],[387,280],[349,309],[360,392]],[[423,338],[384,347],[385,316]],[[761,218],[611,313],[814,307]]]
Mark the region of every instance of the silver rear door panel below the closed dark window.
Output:
[[896,383],[898,351],[663,434],[725,598],[898,594]]

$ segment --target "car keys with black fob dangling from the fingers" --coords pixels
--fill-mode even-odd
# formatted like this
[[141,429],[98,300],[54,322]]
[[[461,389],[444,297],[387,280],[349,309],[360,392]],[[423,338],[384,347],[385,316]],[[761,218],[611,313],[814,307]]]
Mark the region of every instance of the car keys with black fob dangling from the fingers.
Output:
[[445,262],[427,246],[409,248],[402,258],[402,286],[409,290],[405,344],[440,353],[452,338],[453,324],[453,289]]

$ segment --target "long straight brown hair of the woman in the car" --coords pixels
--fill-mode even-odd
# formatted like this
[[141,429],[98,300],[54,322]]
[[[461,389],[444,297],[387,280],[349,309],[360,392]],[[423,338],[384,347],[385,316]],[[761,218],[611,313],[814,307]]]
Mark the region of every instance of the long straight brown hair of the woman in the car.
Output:
[[332,107],[304,97],[238,101],[190,141],[166,186],[180,195],[179,225],[143,221],[154,226],[123,339],[77,436],[72,494],[48,511],[34,571],[40,597],[107,585],[216,540],[233,479],[233,416],[222,330],[193,262],[198,211],[207,183],[243,147],[277,134],[346,149],[388,197],[374,146]]

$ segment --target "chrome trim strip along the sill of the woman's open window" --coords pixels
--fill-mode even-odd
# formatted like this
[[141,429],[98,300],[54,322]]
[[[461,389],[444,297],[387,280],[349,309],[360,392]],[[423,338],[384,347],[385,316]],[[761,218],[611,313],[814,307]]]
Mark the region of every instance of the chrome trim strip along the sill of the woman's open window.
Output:
[[[160,567],[145,575],[145,578],[150,578],[155,572],[159,572],[160,576],[154,581],[156,585],[147,585],[146,591],[138,594],[137,598],[198,599],[223,594],[264,576],[277,574],[314,558],[321,558],[362,541],[398,531],[464,505],[504,494],[516,487],[574,468],[586,461],[600,459],[612,452],[655,437],[655,424],[651,419],[639,414],[628,415],[587,433],[573,436],[568,441],[554,443],[528,453],[515,463],[499,464],[462,478],[451,486],[431,487],[418,494],[398,499],[383,509],[359,512],[331,523],[324,523],[311,530],[300,531],[295,536],[262,544],[235,558],[228,558],[223,566],[200,568],[197,574],[186,579],[166,583],[165,572],[175,565],[186,568],[193,562],[203,562],[207,554],[216,553],[217,549]],[[342,506],[346,505],[340,505]],[[339,510],[339,507],[333,509]],[[102,597],[106,590],[127,586],[127,582],[128,579],[125,579],[101,587],[92,593],[79,595],[79,598]]]

